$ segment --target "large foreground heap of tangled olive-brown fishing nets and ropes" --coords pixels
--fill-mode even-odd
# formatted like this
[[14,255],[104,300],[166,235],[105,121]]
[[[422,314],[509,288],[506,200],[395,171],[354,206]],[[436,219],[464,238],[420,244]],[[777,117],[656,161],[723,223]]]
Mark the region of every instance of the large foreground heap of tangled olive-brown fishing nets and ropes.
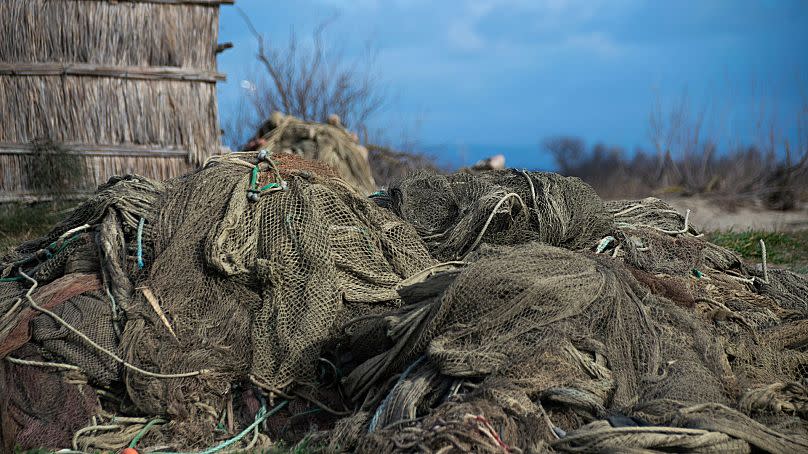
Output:
[[0,273],[4,452],[808,450],[808,281],[576,178],[234,153]]

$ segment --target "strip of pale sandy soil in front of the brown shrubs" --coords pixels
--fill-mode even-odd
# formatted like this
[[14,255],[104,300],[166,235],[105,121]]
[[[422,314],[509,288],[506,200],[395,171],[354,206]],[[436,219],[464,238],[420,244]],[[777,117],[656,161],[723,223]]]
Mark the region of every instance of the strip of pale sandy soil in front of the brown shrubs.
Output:
[[734,210],[699,197],[662,197],[682,214],[690,209],[690,222],[704,232],[715,230],[795,231],[808,229],[808,206],[794,211],[743,207]]

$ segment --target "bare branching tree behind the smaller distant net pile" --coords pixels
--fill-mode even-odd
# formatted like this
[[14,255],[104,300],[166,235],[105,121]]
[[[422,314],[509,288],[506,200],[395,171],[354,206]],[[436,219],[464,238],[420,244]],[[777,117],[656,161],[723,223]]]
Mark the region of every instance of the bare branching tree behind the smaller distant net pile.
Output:
[[367,130],[386,100],[369,46],[360,58],[346,58],[324,38],[331,21],[316,27],[311,45],[294,31],[284,46],[267,45],[249,17],[239,13],[258,43],[260,73],[245,94],[259,121],[276,111],[307,121],[324,122],[337,115],[344,126],[360,134]]

